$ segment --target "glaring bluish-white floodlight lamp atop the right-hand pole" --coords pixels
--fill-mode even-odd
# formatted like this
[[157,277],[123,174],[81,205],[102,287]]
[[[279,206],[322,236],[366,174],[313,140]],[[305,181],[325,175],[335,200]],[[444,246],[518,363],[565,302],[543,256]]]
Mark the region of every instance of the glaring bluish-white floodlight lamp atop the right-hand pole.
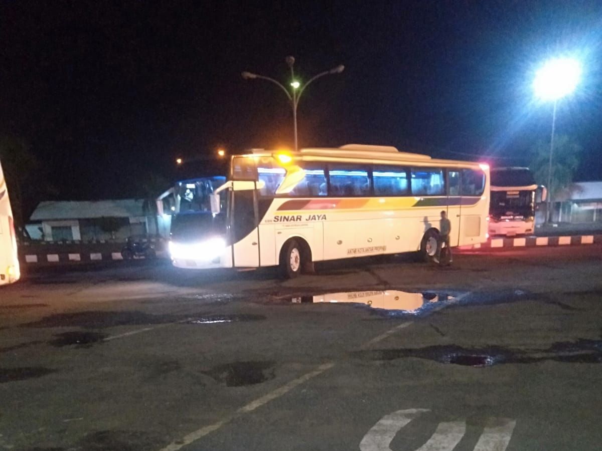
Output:
[[535,74],[533,90],[542,100],[558,100],[572,93],[581,78],[581,63],[573,58],[557,58]]

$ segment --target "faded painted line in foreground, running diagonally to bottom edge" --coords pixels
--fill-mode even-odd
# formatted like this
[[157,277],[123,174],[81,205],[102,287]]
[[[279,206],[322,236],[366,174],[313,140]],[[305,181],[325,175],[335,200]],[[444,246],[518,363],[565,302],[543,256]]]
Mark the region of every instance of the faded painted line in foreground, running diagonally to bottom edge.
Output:
[[270,391],[270,393],[265,394],[264,396],[259,397],[258,399],[255,399],[254,401],[249,402],[247,405],[238,409],[234,415],[227,416],[227,417],[225,417],[225,419],[222,419],[217,423],[213,423],[213,425],[203,426],[203,428],[197,429],[196,431],[191,432],[188,435],[185,435],[185,437],[182,438],[182,440],[178,440],[177,442],[176,441],[172,442],[169,445],[167,445],[166,447],[161,448],[160,451],[177,451],[177,450],[181,449],[182,447],[187,446],[187,445],[193,443],[194,441],[197,441],[200,438],[205,437],[205,435],[211,434],[211,432],[213,432],[213,431],[217,431],[217,429],[221,428],[226,423],[231,422],[236,417],[239,417],[243,414],[252,412],[256,408],[261,407],[262,405],[265,405],[268,402],[281,397],[283,394],[286,394],[289,391],[293,390],[293,388],[297,387],[297,385],[303,384],[303,382],[306,382],[309,379],[314,378],[317,375],[320,375],[324,371],[326,371],[334,366],[335,366],[334,363],[321,364],[315,370],[310,371],[309,373],[305,373],[304,375],[300,376],[299,378],[293,379],[292,381],[288,382],[287,384],[282,385],[282,387],[276,388],[276,390]]

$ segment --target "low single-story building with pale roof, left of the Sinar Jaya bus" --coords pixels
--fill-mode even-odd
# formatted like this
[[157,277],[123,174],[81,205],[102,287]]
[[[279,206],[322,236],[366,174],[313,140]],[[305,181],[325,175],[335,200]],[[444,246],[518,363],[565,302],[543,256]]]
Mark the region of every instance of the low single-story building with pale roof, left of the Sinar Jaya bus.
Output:
[[[26,225],[32,239],[44,241],[125,241],[132,235],[163,235],[163,218],[149,215],[141,199],[43,201]],[[168,229],[169,230],[169,229]]]

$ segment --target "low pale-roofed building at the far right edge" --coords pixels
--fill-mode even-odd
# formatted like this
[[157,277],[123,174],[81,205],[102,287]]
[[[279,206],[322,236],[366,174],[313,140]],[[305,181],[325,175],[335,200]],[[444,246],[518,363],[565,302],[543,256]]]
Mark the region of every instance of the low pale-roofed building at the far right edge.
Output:
[[602,222],[602,182],[578,182],[555,198],[554,222]]

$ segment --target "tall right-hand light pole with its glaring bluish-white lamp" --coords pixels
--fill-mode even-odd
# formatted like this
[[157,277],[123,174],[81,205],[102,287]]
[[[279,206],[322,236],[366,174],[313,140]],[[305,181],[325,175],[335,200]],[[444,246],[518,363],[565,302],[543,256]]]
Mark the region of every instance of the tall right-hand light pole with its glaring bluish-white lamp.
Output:
[[554,58],[536,72],[533,80],[535,95],[545,101],[553,101],[552,133],[550,137],[550,159],[548,161],[548,198],[545,207],[545,222],[551,222],[552,156],[554,132],[556,130],[556,107],[558,101],[573,93],[581,78],[581,63],[574,58]]

